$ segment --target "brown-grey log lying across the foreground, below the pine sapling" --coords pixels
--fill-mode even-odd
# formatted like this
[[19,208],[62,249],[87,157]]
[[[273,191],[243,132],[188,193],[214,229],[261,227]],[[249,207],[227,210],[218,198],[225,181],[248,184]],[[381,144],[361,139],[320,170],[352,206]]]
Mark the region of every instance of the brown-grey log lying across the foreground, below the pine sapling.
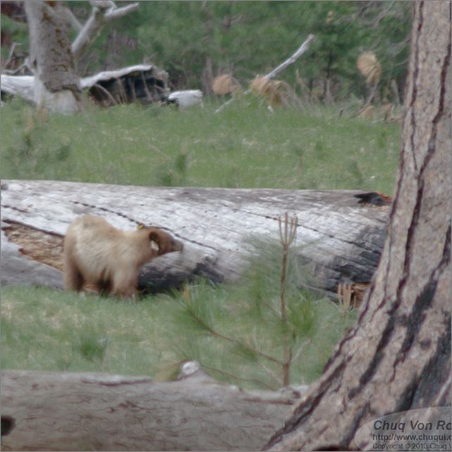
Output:
[[60,372],[1,375],[2,451],[258,451],[299,389],[241,391],[202,372],[175,382]]

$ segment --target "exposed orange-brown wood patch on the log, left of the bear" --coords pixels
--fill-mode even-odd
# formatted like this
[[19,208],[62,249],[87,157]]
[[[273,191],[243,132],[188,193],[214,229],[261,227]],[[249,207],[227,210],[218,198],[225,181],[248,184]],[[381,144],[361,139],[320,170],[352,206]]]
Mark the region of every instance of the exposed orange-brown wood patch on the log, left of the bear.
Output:
[[13,222],[8,222],[8,226],[2,229],[13,244],[20,246],[20,253],[63,271],[63,237],[61,235]]

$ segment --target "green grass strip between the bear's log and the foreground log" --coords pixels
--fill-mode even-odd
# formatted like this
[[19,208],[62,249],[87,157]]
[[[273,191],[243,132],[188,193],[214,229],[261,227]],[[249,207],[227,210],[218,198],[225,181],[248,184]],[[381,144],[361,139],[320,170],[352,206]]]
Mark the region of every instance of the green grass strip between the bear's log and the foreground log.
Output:
[[288,323],[283,324],[281,246],[254,246],[260,252],[237,284],[199,280],[134,303],[43,287],[4,287],[1,368],[171,379],[184,360],[198,360],[217,380],[277,389],[282,367],[267,357],[283,359],[289,332],[291,382],[311,382],[356,314],[344,317],[332,301],[297,287],[302,270],[290,253]]

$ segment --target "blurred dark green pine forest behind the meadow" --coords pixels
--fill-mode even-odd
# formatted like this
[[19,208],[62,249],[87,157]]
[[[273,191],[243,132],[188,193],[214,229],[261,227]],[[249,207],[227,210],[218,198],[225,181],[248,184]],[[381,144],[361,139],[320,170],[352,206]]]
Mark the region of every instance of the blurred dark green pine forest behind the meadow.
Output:
[[[8,42],[27,53],[27,24],[20,8],[10,17],[11,5],[2,2],[1,8],[5,61]],[[91,6],[70,1],[70,9],[84,23]],[[356,60],[372,51],[382,68],[379,99],[394,101],[392,80],[403,94],[410,11],[406,1],[142,1],[137,11],[102,30],[78,69],[86,76],[153,63],[168,71],[172,89],[211,94],[211,76],[227,73],[246,84],[284,61],[311,33],[315,42],[303,63],[284,70],[285,82],[298,90],[296,82],[302,82],[320,101],[366,96]]]

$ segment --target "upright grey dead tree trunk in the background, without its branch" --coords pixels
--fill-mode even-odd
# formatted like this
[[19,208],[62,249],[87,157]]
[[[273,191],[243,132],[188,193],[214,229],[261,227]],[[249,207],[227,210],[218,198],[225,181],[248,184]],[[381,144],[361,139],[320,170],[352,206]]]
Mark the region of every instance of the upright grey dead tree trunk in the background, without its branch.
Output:
[[30,30],[30,63],[34,70],[34,102],[38,108],[73,113],[81,108],[68,25],[61,2],[25,2]]

